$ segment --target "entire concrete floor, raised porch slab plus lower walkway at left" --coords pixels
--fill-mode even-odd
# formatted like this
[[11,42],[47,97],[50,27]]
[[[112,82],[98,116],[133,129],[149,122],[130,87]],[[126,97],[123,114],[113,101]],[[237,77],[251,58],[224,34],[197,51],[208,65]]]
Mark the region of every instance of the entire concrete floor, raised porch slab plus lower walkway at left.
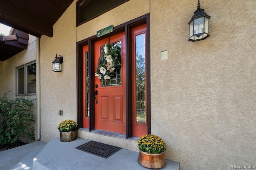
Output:
[[[72,142],[51,140],[23,145],[0,152],[1,170],[146,170],[137,162],[138,152],[120,149],[109,158],[76,149],[90,140],[77,138]],[[27,155],[25,154],[25,151]],[[22,152],[22,154],[20,154]],[[20,155],[19,157],[17,155]],[[20,161],[18,161],[20,159]],[[179,170],[180,164],[166,160],[162,170]]]

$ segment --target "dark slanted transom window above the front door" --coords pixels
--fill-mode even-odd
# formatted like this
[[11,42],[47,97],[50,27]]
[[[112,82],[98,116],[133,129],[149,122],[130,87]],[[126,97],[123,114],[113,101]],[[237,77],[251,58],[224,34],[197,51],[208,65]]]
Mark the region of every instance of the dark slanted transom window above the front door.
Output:
[[78,0],[76,2],[76,25],[112,10],[129,0]]

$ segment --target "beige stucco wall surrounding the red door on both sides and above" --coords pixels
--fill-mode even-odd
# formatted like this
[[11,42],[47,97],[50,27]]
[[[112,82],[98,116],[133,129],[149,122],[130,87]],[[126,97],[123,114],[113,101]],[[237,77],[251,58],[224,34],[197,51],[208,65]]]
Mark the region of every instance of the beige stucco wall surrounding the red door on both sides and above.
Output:
[[[166,158],[184,170],[256,166],[256,4],[201,1],[211,36],[190,42],[196,7],[189,0],[130,0],[75,27],[74,1],[53,37],[40,39],[42,141],[59,137],[60,121],[76,120],[76,42],[150,12],[151,131],[166,141]],[[168,61],[160,61],[162,50]],[[52,71],[56,53],[64,57],[62,72]]]

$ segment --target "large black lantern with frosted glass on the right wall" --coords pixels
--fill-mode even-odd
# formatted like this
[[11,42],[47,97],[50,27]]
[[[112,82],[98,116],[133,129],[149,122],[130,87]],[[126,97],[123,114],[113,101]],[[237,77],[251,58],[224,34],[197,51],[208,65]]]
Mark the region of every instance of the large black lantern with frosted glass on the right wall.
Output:
[[189,38],[188,41],[200,41],[210,36],[209,20],[210,16],[200,8],[200,0],[198,0],[197,10],[194,12],[189,21]]

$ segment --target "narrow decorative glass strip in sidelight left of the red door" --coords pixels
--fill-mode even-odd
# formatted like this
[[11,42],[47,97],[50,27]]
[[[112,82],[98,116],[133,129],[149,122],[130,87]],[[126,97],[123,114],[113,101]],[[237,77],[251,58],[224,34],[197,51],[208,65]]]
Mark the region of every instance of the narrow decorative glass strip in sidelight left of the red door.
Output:
[[86,83],[86,86],[85,86],[85,90],[86,90],[86,113],[85,113],[85,116],[86,117],[89,117],[89,52],[87,51],[85,53],[85,65],[86,65],[86,68],[85,68],[85,83]]

